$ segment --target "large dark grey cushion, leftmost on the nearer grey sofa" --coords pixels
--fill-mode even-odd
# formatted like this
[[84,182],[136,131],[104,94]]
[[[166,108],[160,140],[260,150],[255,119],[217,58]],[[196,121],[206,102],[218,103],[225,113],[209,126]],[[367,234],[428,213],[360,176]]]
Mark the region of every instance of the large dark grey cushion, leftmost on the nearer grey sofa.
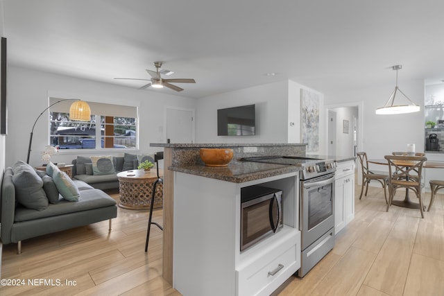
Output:
[[42,211],[48,207],[48,198],[43,189],[43,180],[34,168],[19,161],[12,166],[12,183],[15,186],[15,199],[28,209]]

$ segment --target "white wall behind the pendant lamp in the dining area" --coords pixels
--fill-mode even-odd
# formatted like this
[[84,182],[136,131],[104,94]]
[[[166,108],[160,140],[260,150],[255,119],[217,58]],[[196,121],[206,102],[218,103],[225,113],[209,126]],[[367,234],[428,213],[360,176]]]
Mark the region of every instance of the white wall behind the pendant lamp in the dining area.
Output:
[[348,92],[325,94],[325,105],[362,104],[363,122],[360,150],[369,158],[384,158],[393,151],[404,151],[407,143],[415,143],[416,151],[424,151],[424,81],[402,81],[400,89],[420,105],[420,112],[398,115],[376,115],[394,89],[393,84],[377,85],[368,89],[350,89]]

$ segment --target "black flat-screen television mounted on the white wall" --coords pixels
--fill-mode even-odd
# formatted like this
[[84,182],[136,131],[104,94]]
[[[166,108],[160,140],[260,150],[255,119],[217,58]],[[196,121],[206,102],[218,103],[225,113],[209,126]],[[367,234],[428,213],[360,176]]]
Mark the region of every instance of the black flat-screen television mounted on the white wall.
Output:
[[218,136],[254,136],[255,105],[217,110]]

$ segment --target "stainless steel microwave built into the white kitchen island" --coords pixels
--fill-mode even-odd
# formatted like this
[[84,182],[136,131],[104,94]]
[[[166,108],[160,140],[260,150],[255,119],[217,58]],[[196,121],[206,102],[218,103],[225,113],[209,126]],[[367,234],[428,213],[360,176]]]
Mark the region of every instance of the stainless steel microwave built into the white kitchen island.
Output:
[[281,190],[257,185],[241,188],[241,251],[282,227]]

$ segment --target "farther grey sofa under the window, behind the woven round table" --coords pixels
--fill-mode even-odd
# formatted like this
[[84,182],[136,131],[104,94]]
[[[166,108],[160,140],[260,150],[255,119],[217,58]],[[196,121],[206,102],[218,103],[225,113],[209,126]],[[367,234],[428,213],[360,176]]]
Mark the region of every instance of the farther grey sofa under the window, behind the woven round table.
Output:
[[[112,159],[112,166],[108,159]],[[154,162],[152,155],[135,155],[125,153],[123,157],[84,157],[78,156],[71,162],[74,164],[72,168],[72,175],[75,180],[81,180],[96,189],[118,189],[119,180],[117,179],[117,173],[121,171],[130,171],[137,169],[139,162],[144,160],[150,160]],[[101,162],[102,165],[94,166]],[[108,164],[108,165],[107,165]],[[94,170],[94,167],[96,168]]]

